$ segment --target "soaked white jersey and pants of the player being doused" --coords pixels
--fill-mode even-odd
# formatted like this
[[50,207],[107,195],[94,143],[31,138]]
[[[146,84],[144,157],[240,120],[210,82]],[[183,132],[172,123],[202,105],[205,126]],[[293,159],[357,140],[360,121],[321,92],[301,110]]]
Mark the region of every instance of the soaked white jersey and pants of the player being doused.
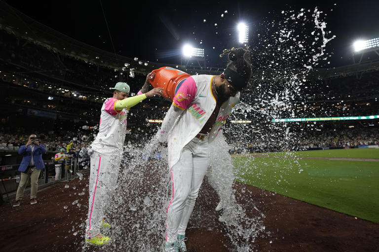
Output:
[[[152,85],[159,87],[154,85],[157,83],[155,77]],[[213,79],[211,75],[193,75],[176,87],[172,106],[161,127],[161,134],[169,132],[168,161],[173,189],[167,207],[167,242],[175,242],[177,235],[185,234],[198,190],[208,170],[208,144],[218,135],[232,107],[239,100],[238,93],[223,104],[217,104],[212,92]],[[165,131],[173,106],[183,112],[175,125]]]

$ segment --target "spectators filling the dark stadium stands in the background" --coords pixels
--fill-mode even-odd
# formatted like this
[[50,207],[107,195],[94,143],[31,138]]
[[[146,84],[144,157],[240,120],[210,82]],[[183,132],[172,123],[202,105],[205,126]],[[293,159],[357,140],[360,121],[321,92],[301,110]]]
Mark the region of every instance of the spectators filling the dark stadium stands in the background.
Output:
[[[30,43],[24,39],[16,38],[7,32],[0,32],[0,46],[4,49],[0,51],[0,58],[5,63],[2,65],[2,70],[5,69],[6,72],[14,73],[12,74],[12,78],[6,82],[25,87],[26,89],[33,89],[43,95],[54,96],[53,100],[41,99],[37,95],[29,95],[31,97],[26,99],[22,94],[29,94],[29,91],[25,90],[22,94],[18,92],[16,94],[18,96],[5,97],[4,102],[6,104],[18,104],[28,108],[57,112],[58,119],[63,112],[82,117],[80,118],[81,120],[88,120],[88,117],[99,116],[99,103],[104,101],[107,97],[106,93],[109,92],[108,88],[114,86],[115,82],[120,80],[127,81],[132,89],[131,95],[137,93],[144,82],[145,76],[136,74],[134,78],[131,78],[128,71],[115,71],[112,68],[97,66],[63,55],[57,57],[56,54],[44,47]],[[16,66],[18,70],[15,71],[16,68],[13,64],[22,65],[28,70],[20,71]],[[43,76],[39,73],[40,71],[43,72]],[[320,89],[323,85],[325,89]],[[309,104],[308,106],[298,107],[296,116],[378,115],[379,108],[375,104],[371,106],[368,102],[363,102],[362,104],[355,102],[361,98],[379,94],[378,85],[379,82],[370,75],[363,75],[360,80],[357,80],[355,76],[351,76],[331,80],[329,83],[311,85],[308,87],[308,91],[311,91],[308,92],[311,95],[308,97],[308,100],[319,100],[320,102],[312,105],[313,107],[309,106]],[[72,93],[78,86],[81,86],[79,88],[80,95],[85,97],[80,100],[77,96],[73,97]],[[87,89],[88,87],[97,88],[98,92],[94,92],[93,89],[91,91],[91,89]],[[61,89],[68,90],[68,92],[64,93]],[[342,102],[341,99],[345,101]],[[152,134],[154,131],[152,130],[153,127],[145,122],[145,118],[162,119],[164,112],[164,109],[157,111],[153,107],[151,109],[147,107],[147,109],[138,111],[139,115],[143,113],[141,117],[142,121],[136,122],[133,130],[138,130],[140,131],[138,133],[144,135]],[[303,116],[310,114],[312,116]],[[87,117],[86,119],[84,119],[85,116]],[[128,120],[131,119],[132,122],[133,117],[133,113],[131,113],[128,116]],[[254,115],[252,118],[255,118]],[[343,130],[323,129],[322,131],[307,131],[307,134],[303,132],[301,137],[294,138],[296,141],[294,140],[292,144],[297,146],[297,148],[303,149],[376,145],[379,139],[378,133],[375,130],[376,128],[356,127],[354,129]],[[81,149],[86,147],[93,138],[93,132],[90,134],[81,133],[80,131],[78,133],[74,131],[50,132],[36,132],[38,137],[44,137],[41,140],[46,145],[46,150],[48,151],[59,151],[62,147],[66,149],[66,146],[74,137],[79,139],[76,143],[76,148]],[[14,132],[14,130],[11,133],[8,130],[0,128],[0,149],[18,150],[25,143],[28,137],[27,134],[29,133]],[[87,137],[86,135],[88,135],[88,139],[81,139],[82,137]],[[138,139],[134,139],[136,135],[138,134],[129,135],[129,137],[126,137],[126,141],[131,141],[136,146],[143,145],[143,141],[139,143]],[[254,138],[255,136],[252,136],[252,139]],[[269,136],[263,137],[263,139],[261,139],[262,137],[258,138],[253,143],[249,139],[244,141],[247,146],[252,148],[251,151],[256,150],[253,147],[264,148],[264,146],[279,146],[277,149],[280,150],[281,143],[279,141],[281,140],[273,139]]]

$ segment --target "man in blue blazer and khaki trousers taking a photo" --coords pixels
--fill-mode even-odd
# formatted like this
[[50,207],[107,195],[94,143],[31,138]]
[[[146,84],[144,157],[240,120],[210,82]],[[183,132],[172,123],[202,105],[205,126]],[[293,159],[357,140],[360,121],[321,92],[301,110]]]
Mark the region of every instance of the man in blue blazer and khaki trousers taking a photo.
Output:
[[22,161],[18,170],[21,172],[20,184],[17,188],[16,202],[14,207],[20,206],[22,196],[28,180],[30,178],[30,204],[37,204],[37,190],[39,173],[45,164],[42,160],[42,154],[46,153],[45,146],[39,144],[36,135],[30,135],[26,145],[23,145],[18,150],[18,154],[22,155]]

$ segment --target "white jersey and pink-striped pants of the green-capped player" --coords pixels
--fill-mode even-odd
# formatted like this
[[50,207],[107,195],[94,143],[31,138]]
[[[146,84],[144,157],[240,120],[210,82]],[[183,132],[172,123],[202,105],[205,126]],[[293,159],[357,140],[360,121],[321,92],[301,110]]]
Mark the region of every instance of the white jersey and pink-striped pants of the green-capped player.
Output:
[[[91,144],[91,173],[86,239],[100,233],[105,207],[111,202],[123,150],[127,109],[115,109],[118,100],[108,98],[101,108],[99,133]],[[92,235],[92,236],[91,236]]]

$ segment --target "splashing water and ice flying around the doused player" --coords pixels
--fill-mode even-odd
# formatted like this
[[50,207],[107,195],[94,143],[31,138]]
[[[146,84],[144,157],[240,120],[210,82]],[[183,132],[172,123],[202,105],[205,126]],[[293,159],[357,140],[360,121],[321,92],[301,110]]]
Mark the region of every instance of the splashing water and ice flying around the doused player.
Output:
[[[322,12],[315,8],[312,17],[309,17],[309,13],[310,10],[304,9],[300,12],[282,11],[283,15],[279,21],[265,21],[262,24],[264,32],[258,34],[258,45],[253,52],[253,62],[259,66],[255,73],[257,81],[250,93],[242,94],[242,102],[235,106],[230,116],[235,119],[241,116],[251,118],[253,124],[225,128],[229,142],[251,143],[249,147],[239,146],[241,152],[293,150],[298,138],[302,136],[295,133],[296,126],[286,123],[272,124],[270,120],[301,114],[299,107],[304,107],[304,100],[308,99],[303,95],[307,94],[311,85],[311,70],[327,59],[322,58],[328,56],[325,46],[334,36],[325,37],[326,22],[321,20]],[[311,30],[308,27],[311,27]],[[314,37],[310,37],[309,34]],[[138,58],[135,58],[135,61],[138,61]],[[134,77],[134,69],[130,69],[130,76]],[[255,212],[254,216],[248,216],[246,209],[237,203],[236,198],[249,198],[249,191],[242,189],[237,193],[231,185],[234,179],[246,182],[244,175],[247,173],[259,179],[265,176],[264,172],[258,166],[252,165],[250,161],[254,160],[254,157],[249,157],[246,158],[246,164],[235,167],[238,172],[233,173],[235,168],[227,155],[228,149],[232,146],[227,145],[223,138],[217,138],[215,141],[217,144],[211,149],[211,153],[225,153],[225,157],[211,156],[212,171],[207,174],[207,180],[223,201],[224,208],[219,221],[223,223],[223,229],[231,241],[232,251],[252,251],[256,237],[269,232],[264,226],[265,215],[254,202],[250,202]],[[293,154],[288,152],[287,155]],[[273,161],[267,162],[271,163],[266,165],[273,164]],[[107,209],[114,240],[114,243],[107,246],[107,251],[162,250],[165,210],[171,193],[167,166],[167,151],[159,146],[155,138],[146,139],[144,147],[128,143],[114,200]],[[221,170],[215,172],[218,167]],[[279,167],[273,179],[277,183],[287,183],[282,175],[294,168],[298,168],[299,173],[303,171],[298,160],[293,159],[290,160],[289,166]],[[203,219],[198,217],[204,217],[204,209],[207,207],[209,208],[197,206],[189,225],[204,226],[205,223],[201,221]]]

